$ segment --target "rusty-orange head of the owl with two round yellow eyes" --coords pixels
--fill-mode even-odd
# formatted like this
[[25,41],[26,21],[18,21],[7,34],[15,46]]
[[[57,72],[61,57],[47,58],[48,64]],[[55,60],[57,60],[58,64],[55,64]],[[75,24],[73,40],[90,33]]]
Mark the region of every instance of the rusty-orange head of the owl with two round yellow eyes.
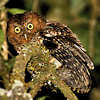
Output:
[[29,42],[46,21],[37,13],[25,12],[12,16],[7,23],[7,38],[14,47]]

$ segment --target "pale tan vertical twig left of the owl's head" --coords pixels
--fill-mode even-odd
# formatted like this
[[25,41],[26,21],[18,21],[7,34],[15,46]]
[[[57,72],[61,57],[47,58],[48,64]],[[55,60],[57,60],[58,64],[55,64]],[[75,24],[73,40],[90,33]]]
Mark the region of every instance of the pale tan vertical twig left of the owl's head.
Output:
[[1,25],[1,28],[2,28],[2,31],[4,33],[4,36],[5,36],[5,39],[4,39],[4,42],[2,44],[2,48],[3,48],[3,51],[1,52],[3,58],[5,60],[8,59],[8,45],[7,45],[7,41],[6,41],[6,27],[7,27],[7,10],[5,9],[5,4],[8,2],[8,0],[1,0],[0,1],[0,25]]

